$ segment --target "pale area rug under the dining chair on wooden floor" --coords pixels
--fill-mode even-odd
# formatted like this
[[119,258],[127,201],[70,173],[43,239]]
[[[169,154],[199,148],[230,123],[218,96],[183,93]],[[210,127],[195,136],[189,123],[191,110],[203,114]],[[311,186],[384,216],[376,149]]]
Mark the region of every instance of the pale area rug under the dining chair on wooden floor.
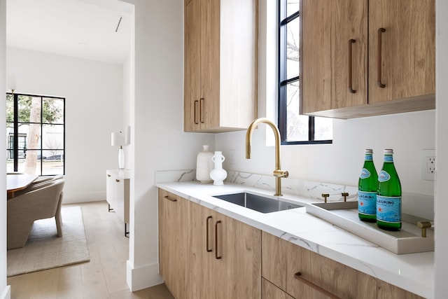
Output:
[[62,237],[55,218],[34,221],[27,244],[8,250],[8,277],[90,260],[80,207],[62,207]]

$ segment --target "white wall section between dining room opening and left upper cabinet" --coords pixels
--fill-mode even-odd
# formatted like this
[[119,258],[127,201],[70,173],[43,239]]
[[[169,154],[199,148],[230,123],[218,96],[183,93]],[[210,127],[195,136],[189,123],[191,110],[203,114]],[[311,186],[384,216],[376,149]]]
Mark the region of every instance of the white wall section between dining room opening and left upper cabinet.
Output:
[[155,172],[195,168],[201,145],[213,149],[214,135],[183,132],[183,0],[126,1],[135,5],[127,282],[136,291],[162,281]]

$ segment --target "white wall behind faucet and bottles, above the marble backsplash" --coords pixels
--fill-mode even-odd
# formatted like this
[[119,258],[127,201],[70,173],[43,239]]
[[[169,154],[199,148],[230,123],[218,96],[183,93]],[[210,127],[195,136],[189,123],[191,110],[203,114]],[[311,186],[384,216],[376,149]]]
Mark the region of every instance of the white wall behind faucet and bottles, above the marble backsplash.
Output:
[[[421,179],[420,155],[423,148],[435,148],[435,111],[400,113],[353,120],[333,121],[333,144],[281,146],[281,168],[290,178],[356,186],[363,167],[364,149],[373,148],[377,171],[384,148],[393,148],[402,190],[433,195],[433,181]],[[262,127],[261,127],[262,126]],[[274,147],[265,146],[265,125],[254,132],[251,160],[245,156],[246,132],[216,135],[216,148],[228,156],[235,150],[235,164],[225,169],[272,174]]]

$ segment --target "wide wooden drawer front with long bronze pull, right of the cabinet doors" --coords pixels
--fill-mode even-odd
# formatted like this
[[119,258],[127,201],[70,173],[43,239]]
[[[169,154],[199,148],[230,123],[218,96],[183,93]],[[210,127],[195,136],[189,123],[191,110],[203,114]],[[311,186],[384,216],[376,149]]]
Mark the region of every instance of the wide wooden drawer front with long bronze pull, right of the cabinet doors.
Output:
[[281,279],[272,283],[294,298],[331,298],[333,294],[339,298],[377,298],[377,280],[373,277],[268,233],[263,232],[262,239],[263,277],[271,275],[265,278],[272,281],[272,275],[281,272],[283,267],[271,265],[269,269],[277,270],[265,270],[265,264],[278,261],[269,260],[269,256],[274,253],[283,259],[286,256],[281,261],[281,265],[286,265],[286,276],[280,274]]

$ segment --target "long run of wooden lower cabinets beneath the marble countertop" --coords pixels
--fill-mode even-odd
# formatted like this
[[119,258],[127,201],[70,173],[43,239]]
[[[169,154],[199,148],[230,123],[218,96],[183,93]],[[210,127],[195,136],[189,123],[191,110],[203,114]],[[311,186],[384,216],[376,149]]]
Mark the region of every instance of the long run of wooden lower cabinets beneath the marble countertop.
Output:
[[176,299],[421,298],[165,190],[158,200],[160,275]]

